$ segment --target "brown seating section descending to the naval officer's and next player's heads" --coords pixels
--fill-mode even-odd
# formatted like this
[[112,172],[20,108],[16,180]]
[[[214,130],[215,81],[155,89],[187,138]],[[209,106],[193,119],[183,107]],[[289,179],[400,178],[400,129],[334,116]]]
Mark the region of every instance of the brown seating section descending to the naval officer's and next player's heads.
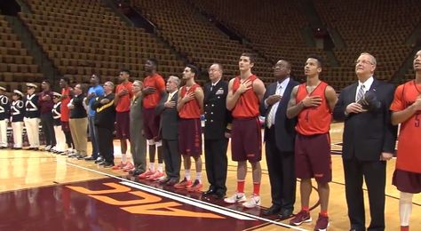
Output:
[[[242,52],[253,52],[245,45],[230,40],[211,22],[195,12],[184,0],[133,0],[148,20],[155,23],[166,40],[187,55],[199,68],[209,68],[212,62],[224,66],[226,78],[238,75],[238,59]],[[253,73],[269,82],[272,63],[257,58]],[[207,76],[206,76],[207,78]]]

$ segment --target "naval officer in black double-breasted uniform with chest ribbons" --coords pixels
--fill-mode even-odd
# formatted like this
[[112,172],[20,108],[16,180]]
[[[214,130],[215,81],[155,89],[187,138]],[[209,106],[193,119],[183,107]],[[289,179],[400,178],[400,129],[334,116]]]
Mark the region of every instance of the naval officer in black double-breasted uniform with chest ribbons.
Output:
[[228,84],[222,80],[222,67],[214,63],[209,68],[211,83],[204,86],[204,157],[206,176],[210,187],[204,195],[214,195],[218,199],[226,195],[226,171],[228,134],[226,125],[231,113],[226,109]]

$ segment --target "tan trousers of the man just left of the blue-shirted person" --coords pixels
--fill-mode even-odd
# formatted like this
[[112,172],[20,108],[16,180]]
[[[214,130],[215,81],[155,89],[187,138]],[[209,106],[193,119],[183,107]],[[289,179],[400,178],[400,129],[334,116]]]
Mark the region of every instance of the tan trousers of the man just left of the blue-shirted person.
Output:
[[69,119],[68,123],[77,153],[79,155],[86,155],[86,148],[88,146],[88,118]]

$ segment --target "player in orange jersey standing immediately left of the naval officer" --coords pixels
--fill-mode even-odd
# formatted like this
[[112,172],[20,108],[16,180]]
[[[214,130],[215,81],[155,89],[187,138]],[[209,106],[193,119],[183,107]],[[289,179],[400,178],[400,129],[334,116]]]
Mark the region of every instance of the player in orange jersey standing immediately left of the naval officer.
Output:
[[[175,188],[200,192],[202,184],[202,127],[200,116],[203,113],[203,90],[195,83],[199,70],[193,65],[184,68],[183,79],[186,85],[179,90],[177,110],[179,111],[179,153],[183,156],[184,179],[174,185]],[[190,169],[195,159],[196,179],[192,183]]]

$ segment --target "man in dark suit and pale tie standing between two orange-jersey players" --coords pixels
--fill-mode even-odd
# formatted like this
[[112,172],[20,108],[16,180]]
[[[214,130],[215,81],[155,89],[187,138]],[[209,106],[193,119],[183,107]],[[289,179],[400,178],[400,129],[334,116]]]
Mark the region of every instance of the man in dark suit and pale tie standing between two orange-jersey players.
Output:
[[266,163],[272,195],[272,206],[264,215],[279,213],[281,219],[292,215],[296,197],[294,140],[297,118],[288,119],[286,111],[292,88],[298,82],[290,78],[290,70],[286,60],[275,64],[276,82],[269,85],[260,104],[261,114],[266,116]]

